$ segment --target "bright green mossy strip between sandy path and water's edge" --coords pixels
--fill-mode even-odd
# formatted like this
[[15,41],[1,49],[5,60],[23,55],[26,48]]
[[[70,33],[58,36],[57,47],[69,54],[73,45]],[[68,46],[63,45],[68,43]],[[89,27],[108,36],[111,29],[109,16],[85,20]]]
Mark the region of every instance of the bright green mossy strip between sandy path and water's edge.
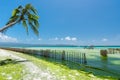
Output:
[[[61,61],[54,61],[52,59],[46,59],[38,56],[31,56],[31,55],[26,55],[26,54],[21,54],[21,53],[16,53],[21,57],[24,57],[28,60],[31,60],[34,64],[39,66],[43,70],[50,71],[52,75],[55,75],[57,77],[57,80],[117,80],[112,77],[101,77],[98,75],[94,75],[93,72],[88,72],[85,67],[80,66],[80,68],[77,66],[77,64],[66,64]],[[63,65],[65,64],[65,65]],[[69,65],[69,67],[67,66]],[[77,66],[77,67],[76,67]],[[94,71],[96,69],[92,69]],[[96,70],[99,71],[99,70]]]

